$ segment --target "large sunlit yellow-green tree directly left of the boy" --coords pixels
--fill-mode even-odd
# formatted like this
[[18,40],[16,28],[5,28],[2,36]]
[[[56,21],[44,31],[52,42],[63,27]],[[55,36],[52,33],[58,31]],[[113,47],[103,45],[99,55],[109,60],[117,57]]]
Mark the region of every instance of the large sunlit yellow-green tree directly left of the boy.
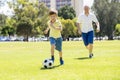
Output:
[[9,3],[9,5],[13,7],[15,12],[12,18],[17,22],[16,29],[18,35],[23,35],[26,40],[28,36],[43,34],[42,29],[46,27],[48,19],[48,8],[45,4],[39,3],[37,0],[34,2],[16,0],[14,4]]

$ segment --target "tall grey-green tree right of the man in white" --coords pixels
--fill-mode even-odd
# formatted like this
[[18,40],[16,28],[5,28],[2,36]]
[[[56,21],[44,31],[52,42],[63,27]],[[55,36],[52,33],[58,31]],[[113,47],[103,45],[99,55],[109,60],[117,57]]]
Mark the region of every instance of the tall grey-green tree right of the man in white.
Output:
[[100,36],[113,39],[114,26],[120,21],[120,3],[118,0],[95,0],[93,10],[100,22]]

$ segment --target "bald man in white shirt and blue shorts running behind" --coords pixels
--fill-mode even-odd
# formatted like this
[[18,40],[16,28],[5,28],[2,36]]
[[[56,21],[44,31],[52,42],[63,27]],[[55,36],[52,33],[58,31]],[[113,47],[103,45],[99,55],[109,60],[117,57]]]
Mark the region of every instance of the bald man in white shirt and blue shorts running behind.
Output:
[[96,16],[89,12],[89,6],[84,6],[84,13],[80,14],[77,20],[78,33],[82,34],[83,42],[86,48],[89,50],[89,58],[93,57],[93,39],[94,30],[92,22],[97,25],[96,31],[100,31],[99,22]]

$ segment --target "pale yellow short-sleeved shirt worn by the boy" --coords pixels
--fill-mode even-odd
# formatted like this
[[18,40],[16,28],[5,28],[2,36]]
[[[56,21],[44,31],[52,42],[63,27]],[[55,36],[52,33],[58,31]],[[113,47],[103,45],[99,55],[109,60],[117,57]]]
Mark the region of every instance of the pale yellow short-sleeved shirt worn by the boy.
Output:
[[[49,37],[53,37],[53,38],[60,38],[60,37],[61,37],[61,31],[52,28],[52,27],[50,26],[50,21],[48,21],[48,26],[49,26],[49,28],[50,28]],[[56,20],[56,21],[53,23],[53,26],[55,26],[55,27],[62,27],[62,24],[61,24],[61,22],[60,22],[59,20]]]

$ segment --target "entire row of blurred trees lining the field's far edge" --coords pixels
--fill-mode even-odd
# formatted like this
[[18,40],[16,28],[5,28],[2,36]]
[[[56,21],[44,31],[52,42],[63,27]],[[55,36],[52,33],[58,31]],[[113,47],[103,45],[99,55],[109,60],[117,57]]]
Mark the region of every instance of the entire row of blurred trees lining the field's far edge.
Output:
[[[29,0],[14,0],[8,3],[10,8],[14,9],[14,16],[7,17],[0,14],[0,35],[11,36],[17,34],[24,36],[24,40],[28,41],[28,37],[37,37],[44,35],[49,20],[49,9],[44,3],[38,1],[29,2]],[[120,27],[116,27],[120,23],[120,2],[118,0],[95,0],[93,11],[96,14],[101,32],[96,36],[108,36],[113,39],[114,34],[120,35]],[[63,39],[69,40],[69,37],[78,37],[76,27],[75,11],[70,6],[64,6],[58,10],[59,20],[62,22]],[[45,36],[48,36],[45,35]]]

